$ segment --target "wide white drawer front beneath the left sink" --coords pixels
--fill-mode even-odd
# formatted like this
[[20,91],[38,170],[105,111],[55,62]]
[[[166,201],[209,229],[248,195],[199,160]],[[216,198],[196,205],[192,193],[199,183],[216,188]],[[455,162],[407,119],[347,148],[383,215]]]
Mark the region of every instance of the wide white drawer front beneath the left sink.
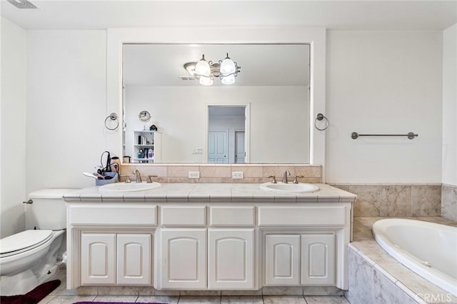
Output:
[[69,206],[72,225],[157,225],[157,206]]

